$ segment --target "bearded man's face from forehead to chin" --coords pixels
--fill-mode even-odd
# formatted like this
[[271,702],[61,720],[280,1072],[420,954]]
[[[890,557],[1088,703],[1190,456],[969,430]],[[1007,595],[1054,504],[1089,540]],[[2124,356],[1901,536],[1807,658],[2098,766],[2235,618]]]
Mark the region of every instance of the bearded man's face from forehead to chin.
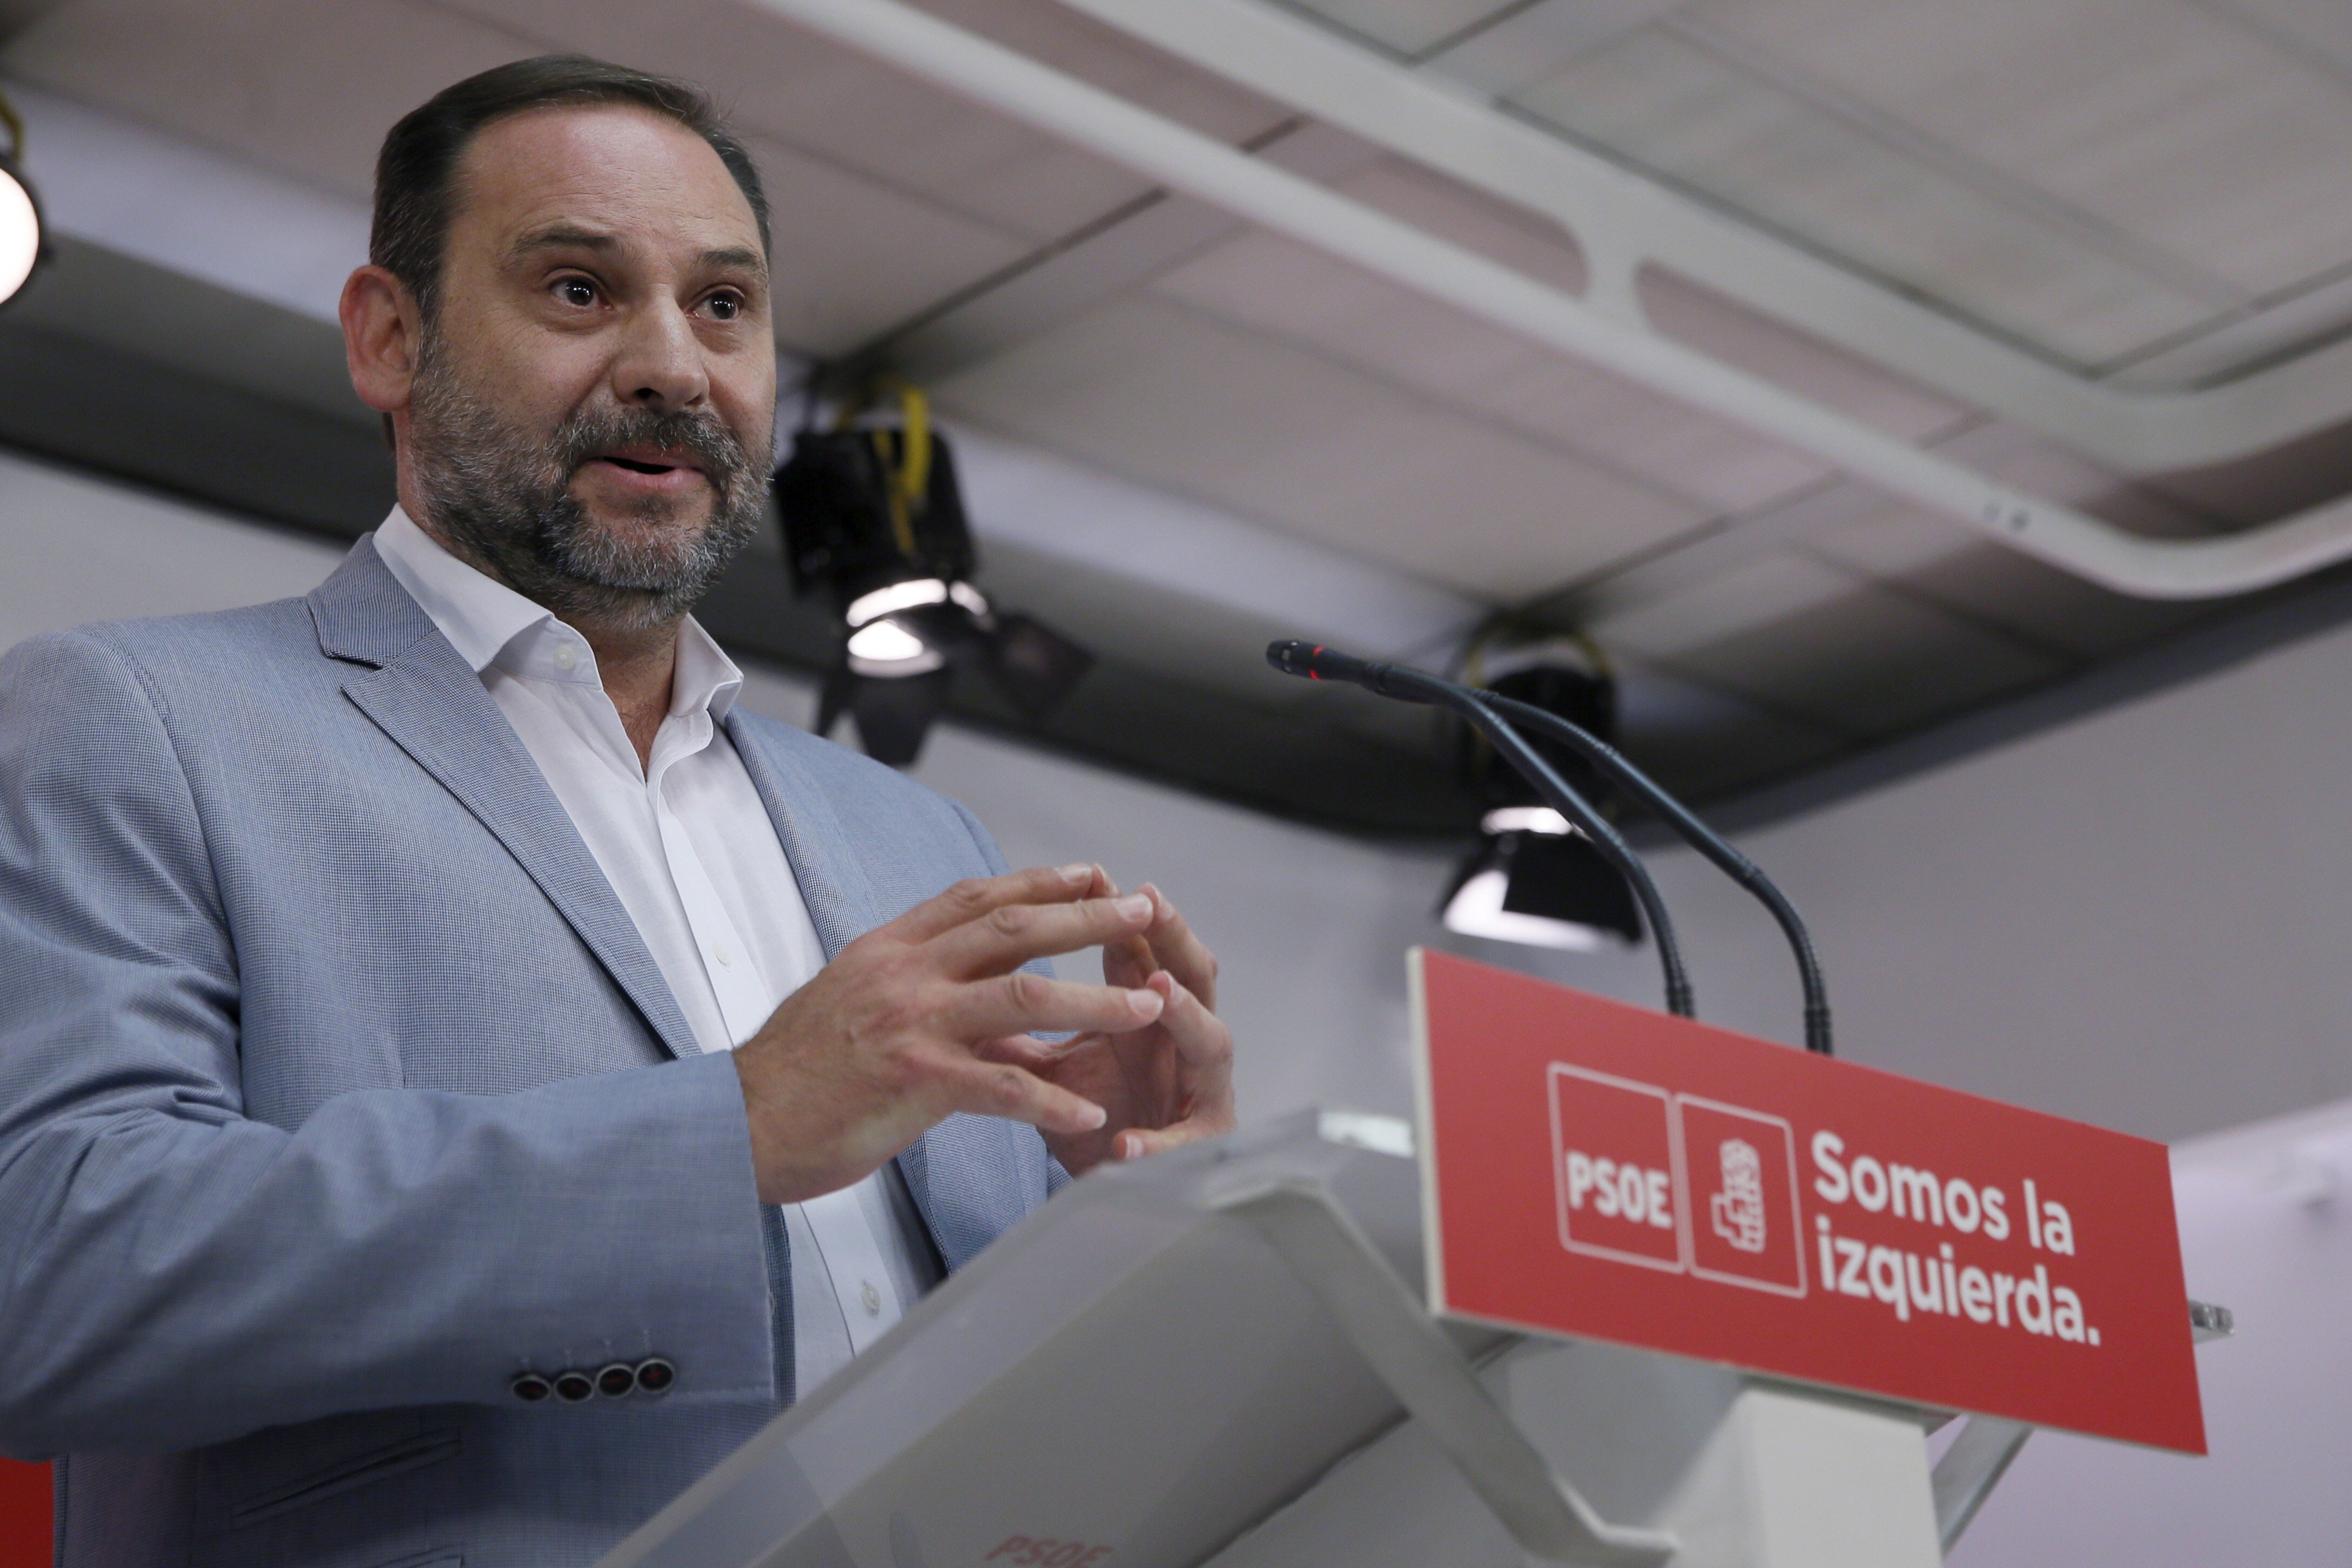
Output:
[[409,400],[423,522],[567,618],[675,618],[767,496],[750,205],[701,136],[614,106],[485,127],[454,190]]

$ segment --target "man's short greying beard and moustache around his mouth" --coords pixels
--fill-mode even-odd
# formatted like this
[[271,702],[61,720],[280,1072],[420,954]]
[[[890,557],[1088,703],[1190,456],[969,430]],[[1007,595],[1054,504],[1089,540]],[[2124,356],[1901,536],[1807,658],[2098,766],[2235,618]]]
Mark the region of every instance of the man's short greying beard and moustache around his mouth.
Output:
[[[548,437],[517,430],[442,357],[426,331],[409,390],[414,475],[428,520],[461,555],[562,621],[593,621],[623,632],[675,625],[736,552],[767,510],[767,473],[713,414],[628,409],[588,402]],[[691,505],[654,496],[635,505],[644,522],[670,524],[630,541],[595,527],[572,496],[572,477],[616,447],[691,451],[710,482],[708,527],[689,531],[675,515]]]

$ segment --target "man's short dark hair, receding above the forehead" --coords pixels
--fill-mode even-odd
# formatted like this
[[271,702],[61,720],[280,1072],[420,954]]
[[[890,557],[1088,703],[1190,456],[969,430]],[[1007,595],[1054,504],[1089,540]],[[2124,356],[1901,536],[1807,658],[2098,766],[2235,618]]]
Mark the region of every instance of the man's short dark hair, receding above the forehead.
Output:
[[456,165],[482,127],[532,108],[621,103],[677,120],[710,143],[734,174],[767,247],[767,190],[750,153],[701,87],[630,71],[583,54],[541,54],[468,75],[400,118],[376,153],[376,219],[367,259],[407,284],[430,317],[440,294],[449,221],[456,214]]

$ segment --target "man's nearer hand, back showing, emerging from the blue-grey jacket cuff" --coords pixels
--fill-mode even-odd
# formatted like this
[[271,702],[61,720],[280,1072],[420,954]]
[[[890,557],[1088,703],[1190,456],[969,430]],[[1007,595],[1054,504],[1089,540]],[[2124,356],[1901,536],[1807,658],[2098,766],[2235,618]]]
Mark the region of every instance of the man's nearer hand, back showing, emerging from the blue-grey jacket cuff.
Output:
[[1030,1030],[1108,1041],[1197,1004],[1131,959],[1115,973],[1105,959],[1108,985],[1021,966],[1096,945],[1131,954],[1162,931],[1160,905],[1117,898],[1091,865],[1014,872],[960,882],[842,947],[734,1053],[760,1201],[847,1187],[960,1110],[1028,1121],[1056,1147],[1108,1135],[1101,1103],[1023,1065],[1049,1051]]

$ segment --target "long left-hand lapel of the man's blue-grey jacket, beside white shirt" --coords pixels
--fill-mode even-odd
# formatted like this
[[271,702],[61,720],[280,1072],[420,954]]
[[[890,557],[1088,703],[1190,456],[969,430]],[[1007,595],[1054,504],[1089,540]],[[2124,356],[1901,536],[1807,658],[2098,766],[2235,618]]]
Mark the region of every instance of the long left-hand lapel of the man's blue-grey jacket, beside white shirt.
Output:
[[694,1032],[637,924],[482,677],[362,538],[310,595],[320,649],[355,665],[343,693],[449,790],[548,896],[588,952],[637,1004],[670,1056],[696,1056]]

